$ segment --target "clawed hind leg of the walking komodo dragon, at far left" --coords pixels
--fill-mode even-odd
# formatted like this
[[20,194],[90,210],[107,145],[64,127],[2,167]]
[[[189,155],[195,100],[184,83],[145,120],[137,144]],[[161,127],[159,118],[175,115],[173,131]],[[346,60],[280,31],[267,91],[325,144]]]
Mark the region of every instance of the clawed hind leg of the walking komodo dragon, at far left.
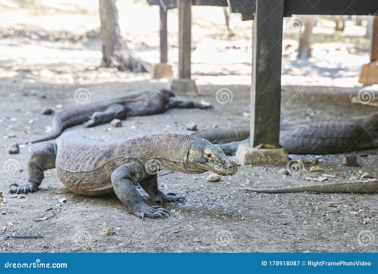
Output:
[[41,143],[35,146],[28,159],[28,180],[22,185],[12,183],[9,187],[16,186],[16,188],[9,189],[8,193],[26,194],[37,191],[44,178],[43,171],[55,168],[56,150],[56,142]]

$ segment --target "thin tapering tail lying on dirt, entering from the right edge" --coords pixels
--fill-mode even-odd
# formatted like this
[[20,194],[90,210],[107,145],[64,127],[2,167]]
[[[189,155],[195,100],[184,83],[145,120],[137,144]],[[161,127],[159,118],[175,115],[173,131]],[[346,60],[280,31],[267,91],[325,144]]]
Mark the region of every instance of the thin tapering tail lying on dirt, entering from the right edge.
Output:
[[262,193],[293,193],[293,192],[318,192],[318,193],[373,193],[378,192],[378,180],[352,181],[341,183],[318,184],[310,186],[293,186],[286,188],[245,188],[246,191]]

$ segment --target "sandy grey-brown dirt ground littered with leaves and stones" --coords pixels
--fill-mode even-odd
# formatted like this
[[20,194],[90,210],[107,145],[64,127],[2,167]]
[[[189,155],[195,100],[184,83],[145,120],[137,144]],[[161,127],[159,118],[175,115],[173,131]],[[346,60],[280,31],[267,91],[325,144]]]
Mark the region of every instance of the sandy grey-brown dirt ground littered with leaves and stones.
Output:
[[[210,102],[214,110],[177,109],[154,116],[132,117],[123,121],[120,128],[105,124],[69,130],[113,141],[147,133],[188,133],[187,122],[197,122],[199,129],[248,123],[250,54],[248,49],[240,54],[241,50],[231,48],[232,41],[222,43],[219,42],[220,46],[211,53],[213,58],[207,61],[200,59],[206,56],[201,47],[193,51],[193,77],[201,96],[190,99]],[[53,116],[40,114],[42,108],[54,107],[59,111],[57,105],[65,108],[77,105],[74,92],[78,88],[88,89],[91,102],[95,102],[135,89],[155,87],[165,80],[151,80],[147,74],[96,69],[101,52],[94,38],[65,42],[16,37],[1,39],[0,47],[3,52],[0,102],[5,102],[0,109],[0,128],[3,136],[15,135],[0,136],[3,159],[0,167],[9,162],[16,167],[14,174],[7,174],[5,166],[0,168],[0,191],[6,199],[0,205],[0,229],[6,227],[5,233],[0,232],[0,252],[378,252],[376,194],[256,194],[243,190],[246,186],[310,185],[312,182],[304,177],[322,174],[277,173],[285,166],[240,166],[237,174],[223,177],[220,182],[208,182],[208,173],[164,175],[166,171],[162,171],[158,177],[160,189],[182,194],[187,199],[178,205],[164,204],[171,211],[171,217],[165,221],[142,221],[128,213],[116,197],[77,195],[60,183],[54,169],[46,172],[37,193],[26,194],[22,199],[7,196],[9,184],[27,176],[26,160],[31,145],[21,147],[20,153],[14,155],[8,154],[7,146],[43,135]],[[315,53],[326,52],[321,47]],[[155,52],[156,59],[156,47],[138,54],[143,57],[151,52]],[[170,52],[174,54],[174,47]],[[340,52],[343,54],[338,55]],[[233,54],[237,59],[230,59]],[[357,79],[367,52],[350,54],[341,48],[327,56],[315,54],[309,61],[284,58],[282,81],[292,86],[283,87],[282,104],[293,96],[297,85],[306,87],[282,111],[283,119],[348,118],[377,110],[350,103],[350,98],[361,88]],[[218,60],[217,64],[212,63],[214,59]],[[216,73],[209,75],[209,71]],[[319,87],[339,83],[352,88]],[[220,88],[232,91],[232,101],[217,102],[215,92]],[[18,91],[9,99],[15,89]],[[29,124],[29,120],[35,122]],[[336,176],[323,182],[326,183],[347,180],[363,166],[376,177],[378,163],[367,163],[369,153],[370,150],[356,152],[357,167],[342,165],[342,154],[290,157],[302,159],[306,169],[316,164],[324,173]],[[346,153],[349,154],[352,152]],[[151,204],[147,194],[143,191],[141,194]],[[67,202],[60,203],[62,198]],[[101,236],[104,227],[111,227],[115,235]],[[5,236],[12,235],[42,235],[43,238],[5,240]]]

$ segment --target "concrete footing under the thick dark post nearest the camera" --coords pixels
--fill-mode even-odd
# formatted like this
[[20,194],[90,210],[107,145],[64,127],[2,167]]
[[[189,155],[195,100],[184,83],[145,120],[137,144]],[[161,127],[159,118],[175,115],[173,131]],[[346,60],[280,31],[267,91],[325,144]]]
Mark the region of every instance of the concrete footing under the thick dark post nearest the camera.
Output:
[[289,157],[284,147],[279,149],[256,149],[250,143],[245,143],[239,145],[235,160],[242,165],[287,164]]

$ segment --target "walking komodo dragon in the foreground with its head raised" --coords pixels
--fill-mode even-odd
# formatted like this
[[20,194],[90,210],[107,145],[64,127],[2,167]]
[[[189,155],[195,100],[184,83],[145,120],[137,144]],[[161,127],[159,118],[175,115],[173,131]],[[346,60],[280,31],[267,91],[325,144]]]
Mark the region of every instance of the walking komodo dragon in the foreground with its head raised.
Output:
[[57,169],[62,183],[82,195],[115,193],[134,215],[148,218],[167,217],[169,212],[143,202],[136,184],[149,194],[153,202],[185,200],[174,193],[158,189],[156,173],[162,169],[183,173],[212,171],[231,176],[237,171],[235,161],[220,147],[193,135],[161,133],[136,136],[124,141],[105,142],[86,138],[78,132],[62,134],[55,142],[35,146],[28,160],[28,179],[12,183],[9,193],[36,191],[43,180],[43,171]]

